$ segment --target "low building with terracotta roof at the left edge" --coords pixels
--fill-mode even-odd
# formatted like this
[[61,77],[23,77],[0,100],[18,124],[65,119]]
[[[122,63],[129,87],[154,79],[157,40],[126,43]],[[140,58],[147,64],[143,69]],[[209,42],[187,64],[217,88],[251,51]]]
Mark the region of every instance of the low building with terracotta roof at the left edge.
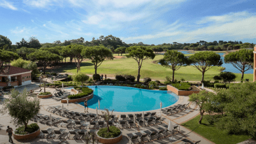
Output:
[[0,68],[0,86],[22,86],[31,84],[31,73],[29,69],[3,65]]

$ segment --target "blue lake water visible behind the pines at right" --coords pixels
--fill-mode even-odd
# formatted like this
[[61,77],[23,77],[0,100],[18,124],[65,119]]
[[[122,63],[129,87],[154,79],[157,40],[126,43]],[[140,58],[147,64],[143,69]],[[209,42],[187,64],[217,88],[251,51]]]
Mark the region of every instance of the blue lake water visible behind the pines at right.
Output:
[[[179,51],[182,52],[182,54],[191,54],[189,51]],[[224,52],[217,53],[221,56],[221,60],[223,60],[223,65],[221,67],[225,67],[226,69],[224,71],[230,71],[232,73],[241,73],[238,69],[236,69],[231,63],[225,63],[224,62]],[[242,74],[242,73],[241,73]],[[248,71],[245,71],[245,74],[253,74],[253,69],[250,69]]]

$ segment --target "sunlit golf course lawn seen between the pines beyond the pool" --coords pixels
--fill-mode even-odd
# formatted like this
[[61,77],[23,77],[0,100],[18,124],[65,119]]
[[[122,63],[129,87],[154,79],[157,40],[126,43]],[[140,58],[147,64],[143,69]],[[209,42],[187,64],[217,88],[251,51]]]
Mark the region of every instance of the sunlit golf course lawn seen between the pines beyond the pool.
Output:
[[[117,54],[114,54],[114,56],[115,55]],[[142,68],[140,69],[140,79],[143,79],[144,77],[150,77],[151,79],[164,81],[166,76],[172,77],[173,72],[171,69],[163,67],[158,63],[154,63],[161,58],[163,58],[163,55],[156,55],[154,60],[144,60],[142,63]],[[204,79],[213,81],[213,77],[220,73],[219,69],[221,69],[221,67],[212,67],[205,73]],[[67,66],[63,67],[62,69],[56,69],[56,71],[76,73],[77,70],[75,66]],[[87,74],[95,73],[94,65],[91,63],[90,60],[81,63],[81,72]],[[105,60],[104,62],[102,62],[100,67],[98,67],[97,73],[104,73],[107,75],[127,74],[137,77],[138,63],[132,58],[114,58],[114,60]],[[238,75],[236,81],[240,81],[241,74],[236,75]],[[175,71],[175,79],[181,80],[181,78],[184,78],[185,81],[201,81],[202,73],[200,73],[198,69],[192,66],[181,67],[181,69]],[[244,79],[249,79],[249,81],[253,81],[253,74],[245,74]]]

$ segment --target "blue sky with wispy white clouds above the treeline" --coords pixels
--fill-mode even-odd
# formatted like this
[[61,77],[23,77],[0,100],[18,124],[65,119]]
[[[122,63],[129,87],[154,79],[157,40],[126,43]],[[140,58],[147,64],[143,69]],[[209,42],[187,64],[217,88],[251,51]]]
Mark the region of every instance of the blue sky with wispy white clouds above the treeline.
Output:
[[256,43],[255,0],[0,0],[0,35],[12,44],[114,35],[125,43]]

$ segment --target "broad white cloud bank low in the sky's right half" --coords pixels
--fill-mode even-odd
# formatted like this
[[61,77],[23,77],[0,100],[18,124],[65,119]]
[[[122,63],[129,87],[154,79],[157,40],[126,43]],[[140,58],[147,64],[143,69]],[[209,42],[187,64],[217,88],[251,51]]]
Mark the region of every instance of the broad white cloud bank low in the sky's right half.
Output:
[[[222,16],[207,16],[199,22],[202,26],[198,28],[198,22],[190,24],[191,30],[184,30],[187,24],[182,24],[179,21],[164,26],[161,31],[154,34],[141,35],[135,37],[123,37],[123,41],[135,43],[142,40],[154,40],[165,37],[166,41],[177,41],[178,43],[196,43],[197,41],[215,41],[224,40],[240,41],[242,39],[255,39],[256,37],[256,15],[249,12],[231,12]],[[185,27],[186,26],[186,27]],[[166,28],[166,27],[169,27]]]

